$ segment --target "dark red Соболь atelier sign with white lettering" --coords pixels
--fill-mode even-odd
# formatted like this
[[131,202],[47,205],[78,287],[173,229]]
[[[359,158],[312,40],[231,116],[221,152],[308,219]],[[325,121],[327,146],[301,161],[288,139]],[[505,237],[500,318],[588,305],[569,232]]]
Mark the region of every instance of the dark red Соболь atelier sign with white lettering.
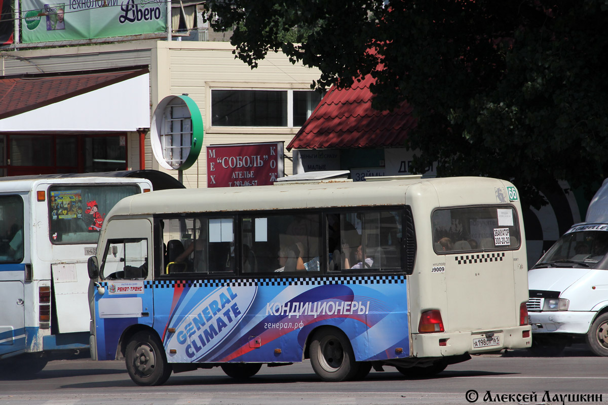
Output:
[[283,177],[283,142],[207,146],[207,187],[268,186]]

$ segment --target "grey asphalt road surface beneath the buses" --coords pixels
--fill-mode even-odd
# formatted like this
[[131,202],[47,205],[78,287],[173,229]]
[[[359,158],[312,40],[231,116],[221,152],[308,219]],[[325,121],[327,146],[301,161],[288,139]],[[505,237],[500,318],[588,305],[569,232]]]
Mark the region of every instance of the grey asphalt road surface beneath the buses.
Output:
[[[229,378],[219,368],[179,373],[161,387],[136,386],[122,361],[77,358],[51,361],[35,378],[0,381],[0,404],[447,405],[471,403],[475,399],[471,390],[477,392],[477,404],[578,404],[582,397],[575,395],[581,394],[601,395],[608,404],[608,358],[593,356],[582,347],[567,349],[559,357],[533,357],[518,350],[474,356],[434,378],[404,379],[394,368],[385,367],[362,381],[345,383],[320,382],[305,361],[264,366],[246,382]],[[559,396],[568,394],[570,398]]]

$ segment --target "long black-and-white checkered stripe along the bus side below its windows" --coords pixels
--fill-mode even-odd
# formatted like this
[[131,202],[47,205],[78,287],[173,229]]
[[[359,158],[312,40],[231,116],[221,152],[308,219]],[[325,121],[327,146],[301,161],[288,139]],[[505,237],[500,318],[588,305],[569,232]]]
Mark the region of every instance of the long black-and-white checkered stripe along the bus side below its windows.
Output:
[[[127,280],[117,280],[127,281]],[[154,280],[144,281],[144,288],[184,288],[184,287],[258,287],[275,285],[329,285],[329,284],[404,284],[406,276],[354,276],[354,277],[281,277],[261,279],[224,280]],[[108,282],[100,283],[108,287]]]

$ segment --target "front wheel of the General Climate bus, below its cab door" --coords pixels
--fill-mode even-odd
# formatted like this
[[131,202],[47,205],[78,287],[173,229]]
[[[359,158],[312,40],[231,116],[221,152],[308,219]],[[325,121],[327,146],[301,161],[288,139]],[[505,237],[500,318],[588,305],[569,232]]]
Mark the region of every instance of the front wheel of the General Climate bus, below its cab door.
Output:
[[162,343],[153,333],[133,335],[126,345],[126,370],[138,386],[160,386],[171,375]]

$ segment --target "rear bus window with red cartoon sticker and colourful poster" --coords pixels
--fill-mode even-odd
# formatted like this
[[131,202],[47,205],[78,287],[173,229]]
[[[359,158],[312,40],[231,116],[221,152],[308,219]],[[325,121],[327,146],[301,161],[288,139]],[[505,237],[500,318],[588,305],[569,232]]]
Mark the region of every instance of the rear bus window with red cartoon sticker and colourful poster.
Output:
[[72,185],[49,188],[49,237],[55,245],[97,243],[106,214],[137,185]]

